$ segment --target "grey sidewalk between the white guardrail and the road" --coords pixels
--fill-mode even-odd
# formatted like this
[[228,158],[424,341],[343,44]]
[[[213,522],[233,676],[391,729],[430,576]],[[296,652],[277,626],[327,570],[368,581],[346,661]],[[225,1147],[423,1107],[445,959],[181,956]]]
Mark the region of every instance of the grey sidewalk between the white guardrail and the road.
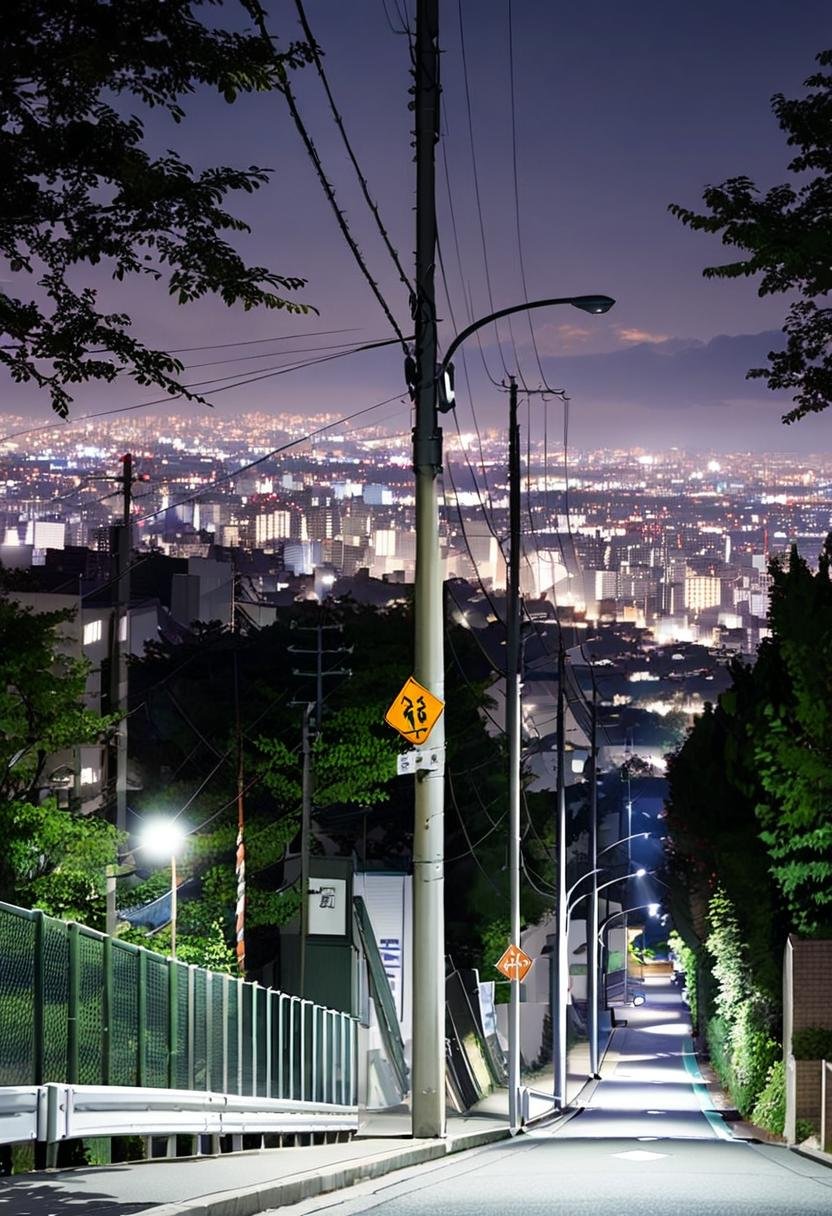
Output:
[[508,1137],[507,1092],[450,1115],[448,1138],[412,1139],[410,1111],[371,1111],[355,1139],[219,1158],[133,1161],[0,1178],[2,1216],[254,1216]]

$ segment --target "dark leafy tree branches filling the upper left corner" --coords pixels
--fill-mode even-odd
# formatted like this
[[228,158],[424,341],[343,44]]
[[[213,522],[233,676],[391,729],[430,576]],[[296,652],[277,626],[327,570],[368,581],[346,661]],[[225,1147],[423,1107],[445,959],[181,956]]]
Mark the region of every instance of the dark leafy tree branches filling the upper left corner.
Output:
[[[102,310],[81,286],[102,264],[113,280],[165,281],[185,304],[207,293],[226,305],[305,313],[287,292],[297,276],[249,266],[225,233],[247,224],[225,209],[269,170],[251,165],[195,171],[176,151],[156,154],[131,107],[180,123],[184,100],[204,86],[232,102],[280,89],[309,49],[277,52],[258,32],[199,21],[223,0],[18,0],[0,27],[0,257],[15,287],[0,291],[0,362],[34,382],[66,417],[69,384],[113,381],[193,396],[182,366],[151,350],[124,313]],[[259,0],[241,0],[254,21]],[[18,294],[17,294],[18,293]]]

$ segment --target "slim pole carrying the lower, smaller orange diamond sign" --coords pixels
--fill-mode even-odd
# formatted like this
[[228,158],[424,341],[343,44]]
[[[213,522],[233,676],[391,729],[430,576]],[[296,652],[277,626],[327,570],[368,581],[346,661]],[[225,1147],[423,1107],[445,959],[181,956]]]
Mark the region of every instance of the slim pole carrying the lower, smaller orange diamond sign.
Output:
[[[508,874],[511,944],[519,946],[521,910],[521,460],[517,381],[508,379],[508,579],[506,607],[506,734],[508,737]],[[508,1008],[508,1127],[519,1131],[519,980],[511,981]]]

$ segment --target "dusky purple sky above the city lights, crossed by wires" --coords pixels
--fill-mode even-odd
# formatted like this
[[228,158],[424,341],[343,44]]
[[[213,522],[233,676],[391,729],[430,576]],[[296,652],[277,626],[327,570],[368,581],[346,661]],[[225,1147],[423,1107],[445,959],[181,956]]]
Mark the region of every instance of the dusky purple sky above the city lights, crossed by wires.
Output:
[[[442,150],[438,156],[440,238],[456,326],[490,311],[473,191],[471,143],[460,54],[456,0],[440,0],[444,139],[460,255],[448,206]],[[407,0],[412,12],[414,2]],[[395,0],[387,0],[395,19]],[[297,36],[292,5],[275,6],[272,28]],[[326,68],[359,159],[406,269],[412,266],[414,164],[407,41],[390,32],[382,0],[333,5],[307,0],[307,12],[326,52]],[[462,0],[473,134],[494,306],[523,299],[517,253],[508,77],[507,0]],[[280,21],[280,24],[279,24]],[[572,439],[595,446],[679,443],[703,447],[830,450],[826,416],[783,428],[783,402],[742,372],[760,361],[776,334],[730,343],[721,336],[776,331],[783,299],[760,300],[754,285],[708,282],[707,264],[727,260],[718,240],[684,229],[668,214],[671,201],[696,207],[707,182],[748,174],[761,186],[786,178],[787,148],[770,112],[770,96],[802,91],[815,54],[832,35],[828,0],[699,0],[668,5],[640,0],[592,5],[513,0],[516,125],[519,213],[529,297],[605,292],[618,300],[602,319],[572,309],[534,316],[547,379],[574,399]],[[342,207],[403,328],[407,299],[354,186],[313,69],[296,74],[302,112],[321,151]],[[105,283],[107,306],[131,311],[148,343],[191,347],[313,330],[354,327],[331,340],[389,336],[376,302],[338,233],[311,167],[277,96],[246,98],[232,107],[206,96],[190,105],[178,130],[153,117],[161,146],[175,142],[193,164],[257,163],[275,169],[271,184],[237,209],[254,233],[244,243],[252,260],[309,280],[302,297],[319,317],[243,315],[199,303],[178,309],[150,285],[116,291]],[[461,269],[460,269],[461,268]],[[454,333],[438,276],[440,336]],[[502,359],[529,384],[539,382],[523,317],[500,331]],[[671,340],[673,339],[673,340]],[[320,339],[325,340],[325,339]],[[287,347],[304,345],[291,342]],[[494,330],[484,332],[491,372],[505,375]],[[264,350],[272,348],[265,347]],[[274,351],[279,350],[276,345]],[[201,353],[192,361],[237,351]],[[251,354],[251,349],[241,350]],[[505,416],[505,399],[482,373],[474,340],[467,361],[477,415]],[[192,373],[231,375],[272,366],[260,362]],[[461,367],[457,362],[457,367]],[[460,424],[470,427],[460,379]],[[359,355],[325,368],[263,381],[219,396],[223,412],[244,409],[350,410],[389,396],[403,383],[400,359]],[[83,389],[77,412],[158,394],[129,382]],[[32,392],[6,383],[0,409],[49,417]],[[403,424],[407,411],[401,409]],[[449,428],[452,423],[449,421]]]

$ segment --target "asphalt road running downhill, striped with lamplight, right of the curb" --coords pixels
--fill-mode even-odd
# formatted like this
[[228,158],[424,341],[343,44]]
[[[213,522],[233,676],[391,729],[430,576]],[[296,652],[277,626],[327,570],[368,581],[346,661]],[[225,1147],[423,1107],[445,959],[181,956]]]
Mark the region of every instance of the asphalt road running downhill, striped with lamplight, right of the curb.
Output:
[[832,1169],[735,1138],[702,1083],[678,992],[645,991],[580,1114],[281,1216],[832,1216]]

